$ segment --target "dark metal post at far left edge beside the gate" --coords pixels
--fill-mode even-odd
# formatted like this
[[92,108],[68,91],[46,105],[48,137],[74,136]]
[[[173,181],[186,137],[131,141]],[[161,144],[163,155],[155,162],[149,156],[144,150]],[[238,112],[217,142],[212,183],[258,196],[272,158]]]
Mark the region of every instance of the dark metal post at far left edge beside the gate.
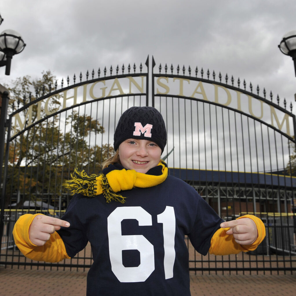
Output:
[[8,91],[4,91],[2,94],[2,106],[1,106],[1,117],[0,117],[0,186],[2,186],[1,189],[1,195],[0,195],[0,245],[2,242],[2,235],[3,235],[3,227],[4,227],[4,198],[5,194],[3,192],[3,184],[4,180],[2,180],[2,170],[3,170],[3,158],[4,158],[4,141],[5,141],[5,129],[6,129],[6,120],[7,120],[7,108],[8,108]]

